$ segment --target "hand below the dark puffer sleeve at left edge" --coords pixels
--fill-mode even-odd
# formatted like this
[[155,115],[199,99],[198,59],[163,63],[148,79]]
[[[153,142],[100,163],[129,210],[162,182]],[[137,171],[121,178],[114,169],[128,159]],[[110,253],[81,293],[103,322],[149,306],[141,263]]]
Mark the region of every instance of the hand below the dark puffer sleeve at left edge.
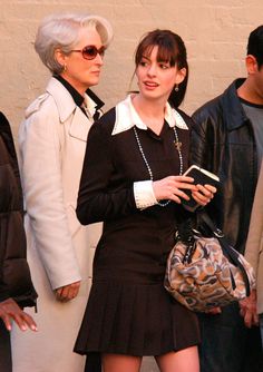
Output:
[[14,321],[21,331],[37,331],[37,324],[33,319],[25,313],[12,298],[0,302],[0,317],[2,319],[8,331],[12,329],[12,321]]

